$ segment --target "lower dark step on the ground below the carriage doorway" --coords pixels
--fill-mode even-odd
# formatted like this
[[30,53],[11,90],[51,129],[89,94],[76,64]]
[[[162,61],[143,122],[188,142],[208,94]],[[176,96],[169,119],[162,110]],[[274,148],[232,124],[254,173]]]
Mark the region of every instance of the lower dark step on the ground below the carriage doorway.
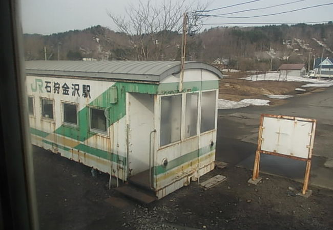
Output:
[[151,191],[135,187],[131,184],[123,185],[115,190],[144,204],[157,200],[157,197],[152,195]]

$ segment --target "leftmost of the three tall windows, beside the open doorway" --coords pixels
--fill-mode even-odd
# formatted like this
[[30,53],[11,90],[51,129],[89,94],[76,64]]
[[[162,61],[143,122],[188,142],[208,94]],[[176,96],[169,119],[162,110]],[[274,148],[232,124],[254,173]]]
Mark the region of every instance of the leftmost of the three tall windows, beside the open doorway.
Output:
[[160,146],[180,140],[181,95],[161,97]]

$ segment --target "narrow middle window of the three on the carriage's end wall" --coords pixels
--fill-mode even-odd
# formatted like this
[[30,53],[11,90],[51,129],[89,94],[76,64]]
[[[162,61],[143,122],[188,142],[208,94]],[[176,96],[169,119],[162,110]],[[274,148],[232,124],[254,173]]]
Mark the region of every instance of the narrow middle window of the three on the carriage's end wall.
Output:
[[197,135],[199,94],[186,94],[185,138]]

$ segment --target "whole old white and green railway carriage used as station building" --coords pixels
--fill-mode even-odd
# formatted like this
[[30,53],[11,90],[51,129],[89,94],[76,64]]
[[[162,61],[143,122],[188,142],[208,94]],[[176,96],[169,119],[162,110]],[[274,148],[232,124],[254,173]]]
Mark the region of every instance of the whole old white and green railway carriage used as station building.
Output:
[[214,168],[221,72],[186,62],[181,92],[179,72],[177,61],[27,61],[32,143],[161,198]]

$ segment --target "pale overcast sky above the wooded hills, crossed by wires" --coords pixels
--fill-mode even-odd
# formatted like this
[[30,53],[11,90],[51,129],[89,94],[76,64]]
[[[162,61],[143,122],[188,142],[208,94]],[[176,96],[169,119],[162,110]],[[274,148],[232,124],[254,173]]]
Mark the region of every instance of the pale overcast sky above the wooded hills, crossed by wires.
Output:
[[[142,0],[145,2],[145,0]],[[162,0],[151,0],[161,2]],[[176,1],[176,0],[172,0]],[[201,0],[200,3],[203,3]],[[248,2],[249,0],[218,1],[211,0],[207,9],[234,5]],[[210,14],[222,14],[239,10],[262,8],[277,4],[295,2],[297,0],[258,0],[246,5],[235,6],[227,9],[212,11]],[[85,29],[91,26],[101,25],[117,31],[107,11],[116,15],[125,15],[124,9],[130,3],[138,0],[21,0],[22,2],[22,25],[24,33],[52,34],[68,30]],[[193,0],[186,0],[191,3]],[[255,16],[262,14],[277,13],[287,10],[299,9],[308,6],[332,3],[330,0],[304,0],[286,6],[275,7],[265,10],[243,12],[228,16]],[[259,18],[208,18],[206,24],[225,22],[308,22],[308,21],[330,21],[333,20],[333,5],[313,9],[306,9],[293,13]],[[207,25],[204,28],[216,27]],[[243,25],[244,26],[244,25]],[[251,26],[251,25],[246,25]]]

